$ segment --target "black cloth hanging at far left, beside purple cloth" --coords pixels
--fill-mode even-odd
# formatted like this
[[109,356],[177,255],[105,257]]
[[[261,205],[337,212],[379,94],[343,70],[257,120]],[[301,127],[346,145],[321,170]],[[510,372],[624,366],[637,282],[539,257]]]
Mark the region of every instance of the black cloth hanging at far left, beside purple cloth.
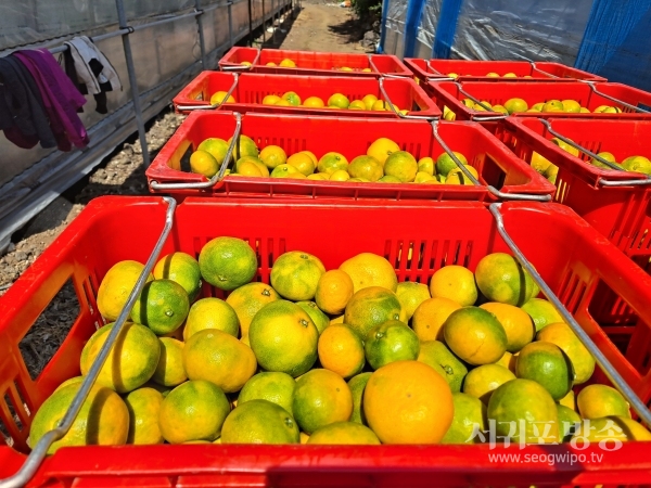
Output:
[[18,147],[55,147],[56,140],[40,91],[25,66],[13,56],[0,59],[0,130]]

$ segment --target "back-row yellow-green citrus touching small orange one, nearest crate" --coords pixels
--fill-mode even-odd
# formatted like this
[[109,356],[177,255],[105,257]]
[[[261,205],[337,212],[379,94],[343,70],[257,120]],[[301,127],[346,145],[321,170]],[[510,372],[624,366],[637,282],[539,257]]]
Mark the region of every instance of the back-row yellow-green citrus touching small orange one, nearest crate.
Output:
[[298,301],[311,300],[326,267],[321,260],[302,251],[279,256],[271,268],[271,286],[282,297]]

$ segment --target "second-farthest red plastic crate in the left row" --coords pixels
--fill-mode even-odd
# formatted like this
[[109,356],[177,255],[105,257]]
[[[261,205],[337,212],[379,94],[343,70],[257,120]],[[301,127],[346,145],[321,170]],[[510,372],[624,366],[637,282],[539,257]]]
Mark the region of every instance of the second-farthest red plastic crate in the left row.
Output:
[[[232,73],[203,72],[194,78],[178,95],[174,105],[178,112],[187,112],[183,106],[208,106],[210,95],[217,91],[229,91],[235,81]],[[408,78],[387,78],[383,81],[386,94],[392,103],[401,110],[410,111],[408,115],[424,118],[438,118],[441,111],[416,81]],[[361,100],[367,94],[383,99],[378,78],[368,77],[329,77],[329,76],[275,76],[244,73],[239,75],[237,87],[232,92],[237,103],[225,103],[221,111],[261,112],[266,114],[295,115],[337,115],[346,117],[393,117],[399,118],[391,111],[349,111],[340,108],[308,108],[302,106],[263,105],[268,94],[281,97],[288,91],[295,91],[301,100],[319,97],[323,103],[334,93],[343,93],[348,100]]]

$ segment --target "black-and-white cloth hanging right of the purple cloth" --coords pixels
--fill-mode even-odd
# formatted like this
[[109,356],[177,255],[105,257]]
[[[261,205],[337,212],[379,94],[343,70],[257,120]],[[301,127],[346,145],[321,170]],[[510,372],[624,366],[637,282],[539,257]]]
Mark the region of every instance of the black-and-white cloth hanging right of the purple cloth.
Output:
[[65,42],[65,46],[68,47],[64,51],[66,74],[78,86],[81,93],[90,93],[94,97],[95,111],[106,114],[108,112],[106,92],[122,90],[115,68],[86,36],[75,37]]

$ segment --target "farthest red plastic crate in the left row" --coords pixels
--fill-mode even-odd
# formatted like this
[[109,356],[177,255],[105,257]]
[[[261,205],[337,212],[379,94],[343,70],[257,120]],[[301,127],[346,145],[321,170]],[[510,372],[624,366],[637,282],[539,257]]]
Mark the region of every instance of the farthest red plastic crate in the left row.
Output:
[[[282,60],[294,61],[296,67],[267,66],[269,62],[279,64]],[[242,65],[252,63],[251,67]],[[342,72],[341,67],[353,68]],[[233,47],[219,60],[222,70],[251,70],[268,75],[317,75],[317,76],[405,76],[413,74],[403,62],[392,54],[354,54],[343,52],[290,51],[285,49],[261,49]],[[362,72],[371,68],[371,72]]]

